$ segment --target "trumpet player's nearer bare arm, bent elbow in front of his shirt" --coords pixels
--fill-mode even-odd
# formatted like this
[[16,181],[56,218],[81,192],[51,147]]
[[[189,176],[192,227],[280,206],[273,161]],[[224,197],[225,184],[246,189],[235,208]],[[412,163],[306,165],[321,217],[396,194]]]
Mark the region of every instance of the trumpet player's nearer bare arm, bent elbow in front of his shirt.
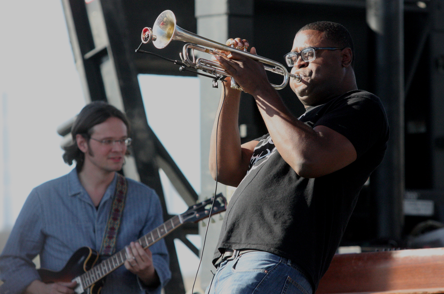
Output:
[[[256,50],[252,48],[251,53]],[[356,150],[345,136],[325,126],[312,129],[289,113],[270,85],[262,63],[238,54],[219,57],[218,61],[254,96],[277,150],[301,177],[330,174],[356,160]]]

